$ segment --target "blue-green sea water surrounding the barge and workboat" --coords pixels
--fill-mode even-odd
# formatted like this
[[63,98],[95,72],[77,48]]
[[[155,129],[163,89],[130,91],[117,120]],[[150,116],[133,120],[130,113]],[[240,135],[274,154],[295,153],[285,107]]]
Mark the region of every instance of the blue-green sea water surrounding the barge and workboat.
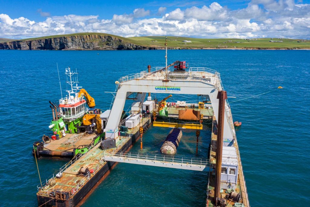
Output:
[[[99,53],[99,55],[97,55]],[[80,85],[108,109],[121,76],[163,66],[164,51],[0,51],[0,186],[2,206],[36,206],[39,178],[32,143],[48,133],[49,100],[60,98],[56,63],[77,68]],[[309,196],[310,51],[169,50],[168,62],[187,61],[221,73],[231,103],[251,206],[303,206]],[[63,91],[65,84],[62,83]],[[63,92],[64,93],[64,92]],[[196,97],[173,97],[196,101]],[[171,99],[173,99],[171,98]],[[174,99],[173,99],[174,100]],[[176,100],[175,100],[176,101]],[[199,141],[205,157],[206,126]],[[144,151],[157,153],[169,129],[150,128]],[[184,130],[178,154],[194,156],[195,135]],[[139,151],[139,143],[132,151]],[[38,160],[42,180],[66,161]],[[83,206],[204,206],[207,174],[119,163]]]

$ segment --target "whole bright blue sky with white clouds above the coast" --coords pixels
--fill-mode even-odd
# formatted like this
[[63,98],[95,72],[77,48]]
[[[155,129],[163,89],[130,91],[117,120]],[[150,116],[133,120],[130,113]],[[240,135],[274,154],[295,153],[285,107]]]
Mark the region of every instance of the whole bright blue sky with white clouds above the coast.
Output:
[[79,32],[310,39],[310,0],[0,0],[0,38]]

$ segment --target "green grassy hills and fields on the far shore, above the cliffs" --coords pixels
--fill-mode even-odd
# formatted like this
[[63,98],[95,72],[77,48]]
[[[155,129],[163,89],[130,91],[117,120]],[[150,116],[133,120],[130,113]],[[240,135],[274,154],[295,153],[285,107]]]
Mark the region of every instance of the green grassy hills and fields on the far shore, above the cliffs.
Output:
[[[147,46],[152,48],[162,49],[165,47],[164,36],[146,36],[146,37],[130,37],[124,38],[117,35],[105,33],[76,33],[76,34],[60,34],[38,38],[21,39],[20,41],[57,38],[57,37],[70,37],[70,36],[83,36],[83,35],[109,35],[121,39],[124,43],[132,43],[140,46]],[[190,43],[182,42],[184,40],[191,41]],[[168,47],[175,49],[203,49],[203,48],[235,48],[235,49],[310,49],[310,41],[301,39],[280,39],[273,38],[273,41],[282,42],[269,42],[271,38],[254,38],[254,39],[237,39],[237,38],[219,38],[219,39],[204,39],[204,38],[187,38],[187,37],[167,37]],[[0,38],[1,42],[12,41],[11,39]]]

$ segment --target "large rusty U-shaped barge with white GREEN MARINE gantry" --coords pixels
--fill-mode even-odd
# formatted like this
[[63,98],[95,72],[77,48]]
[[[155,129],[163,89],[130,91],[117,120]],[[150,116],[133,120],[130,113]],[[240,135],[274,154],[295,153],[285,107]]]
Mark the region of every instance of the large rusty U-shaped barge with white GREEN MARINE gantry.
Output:
[[[185,61],[175,61],[170,65],[166,64],[166,67],[148,66],[147,70],[121,77],[115,83],[115,96],[108,111],[104,137],[91,143],[85,153],[76,153],[59,172],[38,185],[39,206],[81,205],[117,162],[206,171],[209,173],[209,180],[206,180],[206,206],[232,206],[238,202],[240,206],[249,206],[231,110],[218,72],[209,68],[188,68]],[[169,103],[169,107],[172,107],[169,109],[167,103],[162,105],[162,102],[152,100],[151,93],[196,94],[205,102],[198,102],[196,105],[182,103],[183,106],[179,107],[175,104],[170,106]],[[152,109],[145,110],[149,106],[148,102],[144,101],[146,94],[147,101],[154,104]],[[130,116],[122,120],[125,102],[132,99],[134,103]],[[169,114],[171,117],[183,117],[196,123],[156,122],[156,116],[170,117]],[[213,120],[215,124],[209,157],[180,159],[169,155],[139,155],[128,152],[139,138],[141,148],[143,147],[143,133],[151,124],[152,116],[154,126],[159,124],[160,127],[195,129],[197,140],[203,119]],[[166,141],[171,140],[167,137]],[[177,145],[175,149],[176,147]],[[231,160],[230,156],[222,159],[226,151],[228,155],[232,153],[235,159]],[[221,189],[227,193],[221,193]]]

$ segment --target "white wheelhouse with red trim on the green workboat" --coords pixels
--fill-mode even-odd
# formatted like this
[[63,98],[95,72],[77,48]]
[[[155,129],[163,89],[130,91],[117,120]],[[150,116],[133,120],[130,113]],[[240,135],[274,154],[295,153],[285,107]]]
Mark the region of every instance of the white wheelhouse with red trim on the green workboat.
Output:
[[86,100],[83,97],[70,96],[59,100],[60,117],[64,122],[73,121],[82,117],[88,111]]

